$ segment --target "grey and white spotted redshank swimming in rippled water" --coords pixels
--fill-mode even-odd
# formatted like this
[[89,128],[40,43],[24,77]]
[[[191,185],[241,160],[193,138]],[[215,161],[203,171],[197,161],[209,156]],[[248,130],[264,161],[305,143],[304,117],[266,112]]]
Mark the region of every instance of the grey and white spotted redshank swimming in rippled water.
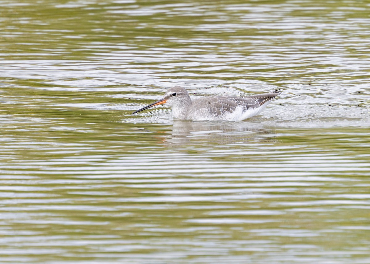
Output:
[[185,88],[175,86],[168,89],[162,99],[132,114],[166,103],[172,107],[174,119],[242,121],[258,115],[279,94],[276,90],[251,96],[221,95],[192,100]]

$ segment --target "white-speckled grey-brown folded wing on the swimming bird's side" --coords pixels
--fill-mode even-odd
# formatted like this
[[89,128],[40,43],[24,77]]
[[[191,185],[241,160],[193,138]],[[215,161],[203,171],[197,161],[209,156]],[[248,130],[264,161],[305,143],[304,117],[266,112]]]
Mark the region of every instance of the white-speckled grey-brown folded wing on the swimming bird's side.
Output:
[[243,110],[260,106],[254,98],[237,96],[217,96],[208,100],[209,110],[212,114],[222,115],[227,112],[232,113],[238,106],[243,106]]

